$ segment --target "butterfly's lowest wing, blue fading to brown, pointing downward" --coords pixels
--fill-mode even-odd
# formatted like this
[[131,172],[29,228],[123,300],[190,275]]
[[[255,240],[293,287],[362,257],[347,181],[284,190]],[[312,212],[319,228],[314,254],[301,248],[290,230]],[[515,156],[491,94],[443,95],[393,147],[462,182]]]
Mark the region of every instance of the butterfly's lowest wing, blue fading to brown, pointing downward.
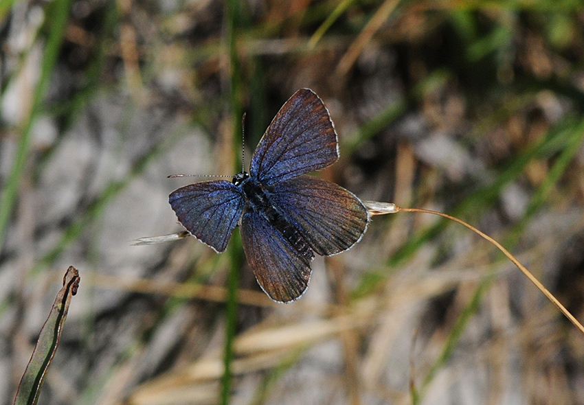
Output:
[[295,251],[259,213],[244,213],[240,231],[247,262],[271,299],[289,302],[304,294],[312,258]]

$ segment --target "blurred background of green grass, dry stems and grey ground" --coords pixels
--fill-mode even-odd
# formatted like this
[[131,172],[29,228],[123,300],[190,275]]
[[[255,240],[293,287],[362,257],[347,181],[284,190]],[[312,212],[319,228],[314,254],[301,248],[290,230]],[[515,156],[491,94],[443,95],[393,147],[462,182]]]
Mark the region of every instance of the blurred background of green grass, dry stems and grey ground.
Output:
[[288,305],[238,231],[131,246],[309,87],[318,176],[470,222],[584,320],[583,32],[569,0],[1,1],[1,404],[69,265],[41,404],[584,404],[584,336],[453,222],[374,217]]

